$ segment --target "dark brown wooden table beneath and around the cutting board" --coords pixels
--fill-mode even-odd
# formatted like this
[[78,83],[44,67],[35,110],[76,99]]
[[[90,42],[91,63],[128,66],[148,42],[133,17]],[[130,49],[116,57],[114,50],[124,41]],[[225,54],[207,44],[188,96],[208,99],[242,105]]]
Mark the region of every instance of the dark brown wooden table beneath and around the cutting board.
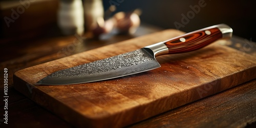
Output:
[[[74,40],[84,38],[74,35],[1,42],[0,69],[1,74],[4,74],[4,68],[8,69],[9,98],[8,125],[4,124],[3,118],[0,118],[0,125],[5,127],[73,127],[14,90],[12,87],[13,73],[40,63],[160,30],[162,29],[142,25],[133,35],[111,33],[99,40],[87,39],[84,44],[76,44]],[[251,41],[239,37],[233,37],[231,40],[230,43],[223,45],[256,55],[256,45]],[[4,80],[1,78],[0,81],[0,94],[3,97]],[[3,100],[0,105],[0,112],[4,115]],[[186,104],[127,127],[254,127],[255,121],[256,80],[251,80],[214,96]]]

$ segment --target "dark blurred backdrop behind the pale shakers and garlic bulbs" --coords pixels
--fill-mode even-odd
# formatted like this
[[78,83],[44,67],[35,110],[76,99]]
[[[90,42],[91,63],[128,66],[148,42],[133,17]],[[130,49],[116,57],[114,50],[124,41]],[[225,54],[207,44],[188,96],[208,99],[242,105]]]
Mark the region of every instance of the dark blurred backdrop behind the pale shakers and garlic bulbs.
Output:
[[[86,1],[94,0],[82,2]],[[104,11],[107,11],[111,5],[116,6],[116,10],[111,15],[120,11],[129,12],[140,9],[141,24],[190,32],[224,23],[233,29],[234,35],[256,41],[254,31],[256,29],[256,1],[253,0],[106,0],[102,1],[102,4]],[[57,25],[58,8],[58,0],[0,1],[0,41],[61,35],[61,30]],[[87,21],[84,22],[86,24]]]

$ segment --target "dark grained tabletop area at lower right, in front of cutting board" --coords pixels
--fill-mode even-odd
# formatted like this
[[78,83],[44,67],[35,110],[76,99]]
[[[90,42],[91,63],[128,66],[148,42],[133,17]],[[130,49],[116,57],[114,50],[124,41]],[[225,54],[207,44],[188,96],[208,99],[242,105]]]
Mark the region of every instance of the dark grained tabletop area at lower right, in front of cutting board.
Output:
[[[255,127],[256,80],[127,127]],[[246,92],[246,93],[243,93]],[[244,122],[243,120],[247,120]],[[254,125],[249,125],[254,122]]]

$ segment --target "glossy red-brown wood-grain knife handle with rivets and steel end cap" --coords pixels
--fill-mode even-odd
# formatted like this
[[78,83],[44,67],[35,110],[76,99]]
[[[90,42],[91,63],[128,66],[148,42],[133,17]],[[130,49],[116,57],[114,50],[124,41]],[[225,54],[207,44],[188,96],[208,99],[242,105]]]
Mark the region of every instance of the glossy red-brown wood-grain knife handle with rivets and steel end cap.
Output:
[[232,29],[220,24],[163,41],[168,54],[184,53],[201,49],[221,38],[231,38]]

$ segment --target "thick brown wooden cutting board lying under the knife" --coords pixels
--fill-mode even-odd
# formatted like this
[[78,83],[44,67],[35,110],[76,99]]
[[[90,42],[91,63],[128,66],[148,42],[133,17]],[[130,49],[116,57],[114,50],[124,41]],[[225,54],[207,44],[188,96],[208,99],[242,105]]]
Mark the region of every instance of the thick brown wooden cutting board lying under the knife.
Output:
[[[14,88],[78,127],[121,127],[256,78],[256,57],[221,46],[157,57],[161,68],[68,86],[35,86],[62,69],[130,52],[178,35],[165,30],[17,71]],[[227,40],[228,41],[228,40]]]

